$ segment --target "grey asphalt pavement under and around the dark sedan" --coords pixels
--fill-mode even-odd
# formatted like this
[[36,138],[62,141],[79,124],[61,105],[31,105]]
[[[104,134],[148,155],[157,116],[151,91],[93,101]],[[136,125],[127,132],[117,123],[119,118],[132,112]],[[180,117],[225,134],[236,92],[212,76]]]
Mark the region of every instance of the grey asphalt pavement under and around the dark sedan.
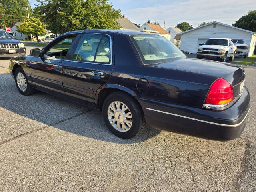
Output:
[[256,68],[245,68],[251,108],[236,140],[150,127],[124,140],[100,111],[20,94],[9,59],[0,59],[1,191],[256,191]]

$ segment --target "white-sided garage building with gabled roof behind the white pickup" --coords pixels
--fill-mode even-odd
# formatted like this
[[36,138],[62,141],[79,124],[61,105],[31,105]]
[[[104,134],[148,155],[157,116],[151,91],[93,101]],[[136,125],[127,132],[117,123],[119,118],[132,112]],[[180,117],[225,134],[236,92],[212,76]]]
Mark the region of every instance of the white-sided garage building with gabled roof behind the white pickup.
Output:
[[256,32],[248,31],[238,27],[230,26],[217,21],[180,33],[180,49],[190,53],[196,53],[199,44],[206,42],[209,38],[230,38],[233,40],[245,40],[250,46],[248,56],[255,52]]

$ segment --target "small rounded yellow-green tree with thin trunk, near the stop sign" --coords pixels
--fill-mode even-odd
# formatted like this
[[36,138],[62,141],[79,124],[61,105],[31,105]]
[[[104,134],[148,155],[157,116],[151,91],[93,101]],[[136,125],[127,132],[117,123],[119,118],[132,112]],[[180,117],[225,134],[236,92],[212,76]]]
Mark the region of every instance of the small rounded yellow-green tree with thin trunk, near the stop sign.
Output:
[[32,34],[36,37],[38,42],[38,36],[43,36],[46,34],[46,26],[42,24],[39,18],[29,18],[26,19],[21,25],[16,25],[17,31],[25,35]]

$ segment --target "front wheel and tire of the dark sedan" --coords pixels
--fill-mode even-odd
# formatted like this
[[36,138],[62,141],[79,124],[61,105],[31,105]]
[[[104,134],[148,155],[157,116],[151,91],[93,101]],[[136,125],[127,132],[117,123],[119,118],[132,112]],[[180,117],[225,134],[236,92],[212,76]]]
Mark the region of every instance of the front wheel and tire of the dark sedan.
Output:
[[16,87],[22,95],[31,95],[35,92],[35,90],[28,83],[27,76],[21,67],[15,70],[14,79]]

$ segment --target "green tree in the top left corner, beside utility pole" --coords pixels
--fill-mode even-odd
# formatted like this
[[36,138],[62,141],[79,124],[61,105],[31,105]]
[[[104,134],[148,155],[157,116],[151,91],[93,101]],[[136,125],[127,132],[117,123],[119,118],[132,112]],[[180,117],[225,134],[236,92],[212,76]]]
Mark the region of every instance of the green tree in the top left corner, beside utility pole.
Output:
[[0,0],[0,27],[14,26],[15,22],[23,22],[32,9],[28,0]]

